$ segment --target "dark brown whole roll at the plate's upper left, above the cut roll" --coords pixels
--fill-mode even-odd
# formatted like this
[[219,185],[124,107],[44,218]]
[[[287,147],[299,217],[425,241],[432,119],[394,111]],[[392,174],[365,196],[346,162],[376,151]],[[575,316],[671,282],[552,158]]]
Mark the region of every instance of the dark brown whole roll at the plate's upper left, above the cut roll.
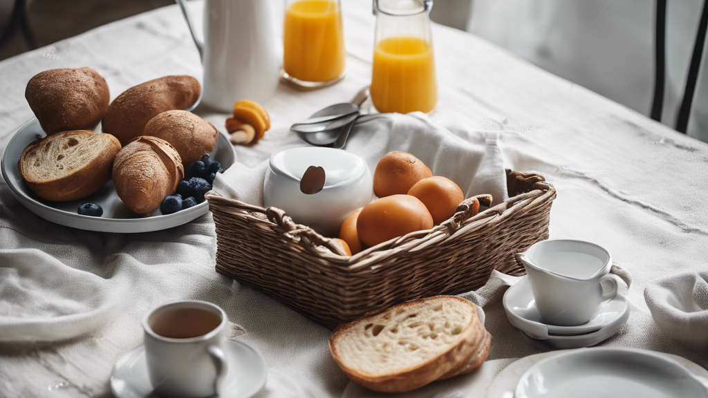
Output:
[[108,108],[108,84],[89,67],[49,69],[27,84],[25,98],[47,134],[93,130]]

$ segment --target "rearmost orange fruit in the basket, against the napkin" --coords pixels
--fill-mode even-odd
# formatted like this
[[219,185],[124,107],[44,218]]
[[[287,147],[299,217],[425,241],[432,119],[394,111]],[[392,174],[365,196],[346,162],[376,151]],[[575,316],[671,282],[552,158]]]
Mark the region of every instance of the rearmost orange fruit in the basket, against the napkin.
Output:
[[379,160],[374,171],[374,193],[379,198],[406,195],[423,178],[432,177],[428,166],[406,152],[389,152]]

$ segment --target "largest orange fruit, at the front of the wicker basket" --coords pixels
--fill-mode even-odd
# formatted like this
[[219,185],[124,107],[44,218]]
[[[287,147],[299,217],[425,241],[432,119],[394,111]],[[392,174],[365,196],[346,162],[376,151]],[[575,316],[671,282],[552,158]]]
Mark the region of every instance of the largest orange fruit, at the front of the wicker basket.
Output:
[[359,239],[367,246],[430,228],[433,228],[433,217],[426,205],[411,195],[374,200],[361,210],[356,222]]

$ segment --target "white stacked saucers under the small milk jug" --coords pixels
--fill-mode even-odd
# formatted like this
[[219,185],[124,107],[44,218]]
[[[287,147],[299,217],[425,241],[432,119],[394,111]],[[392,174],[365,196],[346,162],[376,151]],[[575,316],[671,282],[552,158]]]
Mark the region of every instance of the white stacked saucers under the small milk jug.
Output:
[[600,305],[598,314],[580,326],[555,326],[541,317],[531,294],[527,276],[511,286],[503,298],[509,322],[533,339],[543,340],[554,348],[594,346],[619,331],[629,319],[627,285],[619,287],[617,296]]

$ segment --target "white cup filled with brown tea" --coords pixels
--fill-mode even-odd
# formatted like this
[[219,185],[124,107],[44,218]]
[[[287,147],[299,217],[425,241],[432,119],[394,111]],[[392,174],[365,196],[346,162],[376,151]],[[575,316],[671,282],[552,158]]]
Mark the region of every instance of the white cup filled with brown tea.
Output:
[[142,325],[155,392],[176,398],[216,394],[227,375],[226,324],[224,311],[210,302],[185,300],[152,309]]

